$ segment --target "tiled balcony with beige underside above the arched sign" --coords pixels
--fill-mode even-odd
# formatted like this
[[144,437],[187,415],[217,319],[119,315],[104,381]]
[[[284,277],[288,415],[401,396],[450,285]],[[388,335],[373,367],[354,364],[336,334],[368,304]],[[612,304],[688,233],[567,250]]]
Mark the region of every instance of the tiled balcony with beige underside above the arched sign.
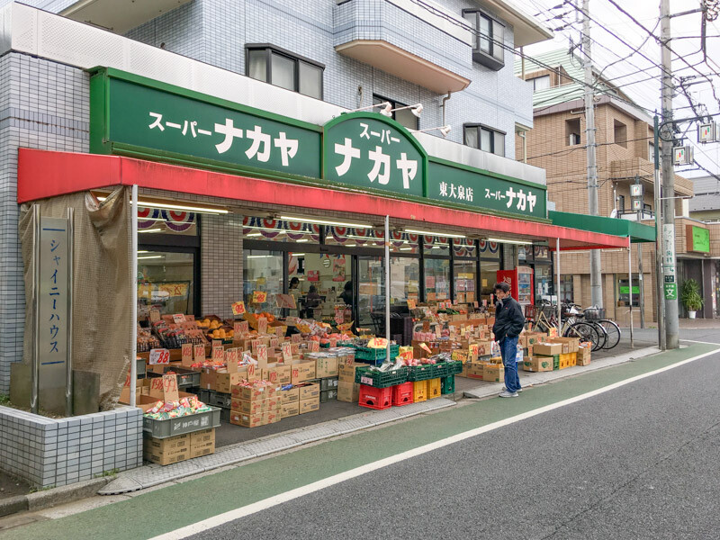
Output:
[[436,94],[470,85],[473,38],[461,14],[431,2],[348,0],[335,6],[338,53]]

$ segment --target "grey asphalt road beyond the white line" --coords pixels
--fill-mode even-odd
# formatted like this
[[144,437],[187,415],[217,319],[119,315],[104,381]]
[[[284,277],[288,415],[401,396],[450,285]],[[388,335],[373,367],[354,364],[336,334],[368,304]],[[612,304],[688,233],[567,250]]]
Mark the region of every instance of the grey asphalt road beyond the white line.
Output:
[[[683,338],[717,342],[717,334]],[[193,539],[718,538],[719,359],[707,356]]]

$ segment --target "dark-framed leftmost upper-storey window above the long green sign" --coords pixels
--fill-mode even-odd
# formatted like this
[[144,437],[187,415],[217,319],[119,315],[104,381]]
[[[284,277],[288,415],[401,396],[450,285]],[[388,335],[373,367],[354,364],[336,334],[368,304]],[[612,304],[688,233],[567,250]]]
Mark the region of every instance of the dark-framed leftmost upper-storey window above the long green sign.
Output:
[[325,66],[267,44],[247,46],[246,73],[293,92],[322,99],[322,72]]

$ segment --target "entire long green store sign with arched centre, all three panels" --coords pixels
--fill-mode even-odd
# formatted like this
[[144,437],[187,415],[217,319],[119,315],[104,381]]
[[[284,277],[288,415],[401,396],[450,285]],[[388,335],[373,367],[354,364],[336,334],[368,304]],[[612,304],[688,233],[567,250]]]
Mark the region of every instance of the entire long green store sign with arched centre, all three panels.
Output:
[[428,157],[373,112],[325,126],[116,69],[90,79],[90,151],[545,220],[545,186]]

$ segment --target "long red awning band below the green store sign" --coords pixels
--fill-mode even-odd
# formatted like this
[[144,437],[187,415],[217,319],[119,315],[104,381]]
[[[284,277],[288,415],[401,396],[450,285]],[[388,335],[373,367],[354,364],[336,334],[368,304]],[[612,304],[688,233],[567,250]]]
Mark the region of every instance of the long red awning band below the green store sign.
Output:
[[227,175],[184,166],[166,165],[130,157],[51,152],[20,148],[18,202],[37,201],[57,195],[83,192],[113,185],[132,185],[164,190],[168,195],[210,195],[238,202],[290,205],[309,210],[333,210],[371,216],[389,215],[419,227],[439,224],[461,229],[491,231],[499,236],[547,240],[561,249],[627,247],[627,238],[557,227],[535,221],[513,220],[489,214],[398,201],[368,193],[354,193],[300,184]]

